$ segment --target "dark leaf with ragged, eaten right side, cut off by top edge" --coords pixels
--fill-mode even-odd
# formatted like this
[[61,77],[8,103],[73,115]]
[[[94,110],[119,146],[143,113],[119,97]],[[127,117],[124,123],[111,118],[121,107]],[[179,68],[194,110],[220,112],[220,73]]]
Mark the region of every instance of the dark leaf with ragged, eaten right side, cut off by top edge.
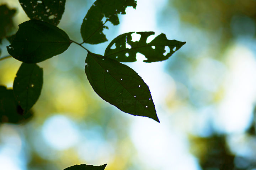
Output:
[[[108,29],[105,26],[107,21],[110,21],[114,26],[119,24],[117,14],[126,14],[127,6],[136,8],[136,0],[97,0],[87,12],[82,25],[81,35],[85,43],[98,44],[107,41],[106,35],[103,34],[103,29]],[[103,18],[106,17],[106,21]]]

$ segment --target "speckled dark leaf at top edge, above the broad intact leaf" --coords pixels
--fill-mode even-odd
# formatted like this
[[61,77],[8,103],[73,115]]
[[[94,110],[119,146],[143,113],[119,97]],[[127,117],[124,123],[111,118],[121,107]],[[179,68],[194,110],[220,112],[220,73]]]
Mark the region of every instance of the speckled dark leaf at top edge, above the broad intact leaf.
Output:
[[66,0],[19,0],[30,19],[38,19],[57,26],[65,10]]

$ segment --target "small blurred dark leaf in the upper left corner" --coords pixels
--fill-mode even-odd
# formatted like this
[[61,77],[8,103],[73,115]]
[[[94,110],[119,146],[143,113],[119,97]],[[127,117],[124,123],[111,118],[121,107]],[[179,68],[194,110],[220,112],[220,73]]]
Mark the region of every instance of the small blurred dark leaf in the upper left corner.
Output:
[[10,10],[6,5],[0,6],[0,44],[2,42],[2,38],[4,38],[14,26],[12,17],[15,12],[15,9]]

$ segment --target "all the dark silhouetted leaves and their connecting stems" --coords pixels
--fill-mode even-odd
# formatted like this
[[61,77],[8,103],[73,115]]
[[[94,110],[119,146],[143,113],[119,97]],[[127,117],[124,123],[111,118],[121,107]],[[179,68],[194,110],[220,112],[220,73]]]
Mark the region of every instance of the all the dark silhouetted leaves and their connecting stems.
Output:
[[[136,0],[96,0],[81,24],[82,43],[71,40],[64,30],[57,27],[64,12],[65,0],[19,2],[30,20],[21,23],[15,35],[6,37],[10,41],[7,51],[22,64],[16,74],[13,89],[0,86],[0,118],[5,116],[11,123],[18,122],[15,117],[21,119],[18,115],[22,115],[23,119],[27,118],[41,94],[43,85],[43,68],[36,63],[63,53],[71,43],[75,43],[87,51],[85,73],[92,89],[103,100],[123,112],[160,122],[148,85],[132,68],[120,62],[135,62],[137,53],[142,53],[147,58],[144,61],[146,63],[164,61],[186,42],[168,40],[165,34],[160,34],[147,43],[147,38],[155,34],[154,32],[138,32],[141,35],[140,40],[133,42],[134,32],[129,32],[113,39],[102,56],[92,53],[82,44],[107,41],[103,33],[104,29],[108,29],[105,24],[111,22],[114,26],[118,25],[118,14],[126,14],[128,6],[135,9]],[[11,18],[15,10],[0,6],[0,11],[2,8],[7,11],[7,16],[4,17],[9,21],[8,17]],[[4,25],[8,28],[10,24],[12,22]],[[5,32],[0,36],[0,41],[4,36]],[[112,49],[112,46],[115,48]],[[166,55],[165,47],[170,49]],[[4,120],[1,119],[1,122]],[[103,170],[105,166],[106,164],[97,167],[75,165],[66,170]]]

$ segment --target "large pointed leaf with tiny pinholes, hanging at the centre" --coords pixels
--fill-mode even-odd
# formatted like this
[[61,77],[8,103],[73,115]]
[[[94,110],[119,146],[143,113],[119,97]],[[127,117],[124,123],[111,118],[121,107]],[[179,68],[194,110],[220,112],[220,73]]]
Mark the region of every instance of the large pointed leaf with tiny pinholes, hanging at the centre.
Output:
[[130,67],[101,55],[88,53],[85,73],[94,91],[123,112],[159,122],[149,87]]

